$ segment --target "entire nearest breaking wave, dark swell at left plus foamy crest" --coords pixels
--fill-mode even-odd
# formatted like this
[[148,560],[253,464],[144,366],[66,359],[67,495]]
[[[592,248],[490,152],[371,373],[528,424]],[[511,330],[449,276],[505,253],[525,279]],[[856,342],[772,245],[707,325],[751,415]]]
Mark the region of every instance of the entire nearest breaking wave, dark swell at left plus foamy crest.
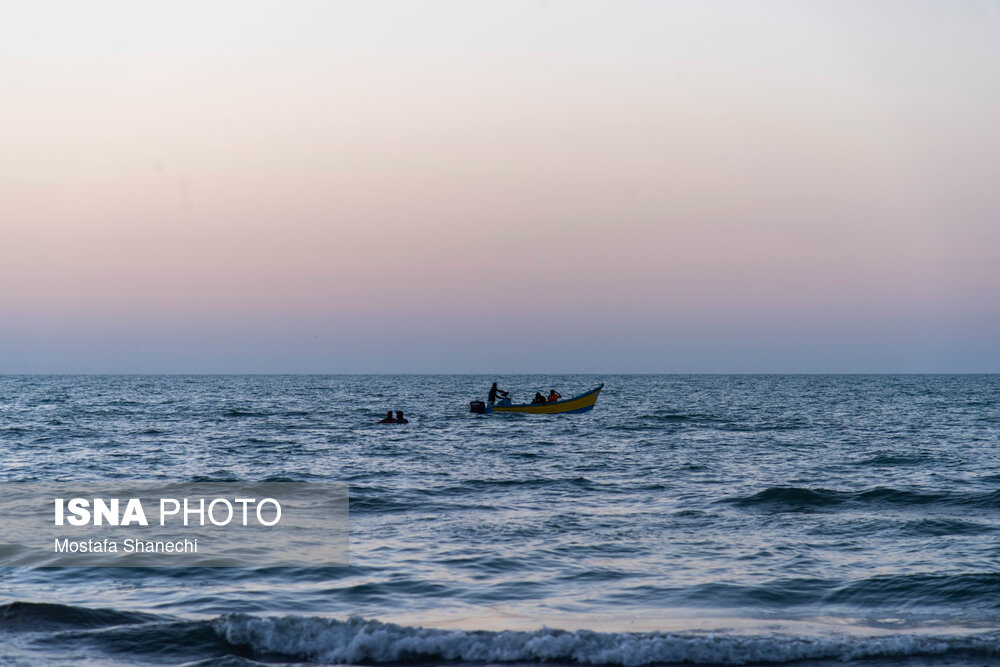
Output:
[[[3,613],[55,621],[20,627],[36,649],[86,645],[117,659],[183,657],[194,664],[512,664],[614,665],[781,664],[804,660],[885,661],[1000,658],[1000,632],[977,634],[783,634],[444,630],[353,617],[347,620],[227,614],[212,620],[13,603]],[[6,618],[6,617],[4,617]],[[117,627],[116,627],[117,624]],[[15,626],[14,630],[19,629]],[[41,633],[42,630],[53,632]],[[37,654],[36,654],[37,655]]]

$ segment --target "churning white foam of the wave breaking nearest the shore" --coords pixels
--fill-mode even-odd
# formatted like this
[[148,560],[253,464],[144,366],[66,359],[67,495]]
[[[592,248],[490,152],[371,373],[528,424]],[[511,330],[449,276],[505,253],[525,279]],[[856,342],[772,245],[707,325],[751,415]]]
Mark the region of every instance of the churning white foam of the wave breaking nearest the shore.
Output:
[[968,652],[1000,656],[1000,633],[974,635],[787,635],[726,633],[533,632],[440,630],[362,618],[337,621],[289,616],[223,616],[215,630],[258,653],[322,663],[425,660],[476,663],[556,662],[634,667],[664,663],[743,665],[808,659],[940,656]]

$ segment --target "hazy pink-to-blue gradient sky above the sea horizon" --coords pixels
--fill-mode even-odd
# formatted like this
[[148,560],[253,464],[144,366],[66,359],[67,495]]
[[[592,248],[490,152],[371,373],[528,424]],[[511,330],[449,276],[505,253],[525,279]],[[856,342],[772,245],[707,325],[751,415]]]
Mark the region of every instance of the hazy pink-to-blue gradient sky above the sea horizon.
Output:
[[1000,372],[1000,0],[0,0],[0,372]]

